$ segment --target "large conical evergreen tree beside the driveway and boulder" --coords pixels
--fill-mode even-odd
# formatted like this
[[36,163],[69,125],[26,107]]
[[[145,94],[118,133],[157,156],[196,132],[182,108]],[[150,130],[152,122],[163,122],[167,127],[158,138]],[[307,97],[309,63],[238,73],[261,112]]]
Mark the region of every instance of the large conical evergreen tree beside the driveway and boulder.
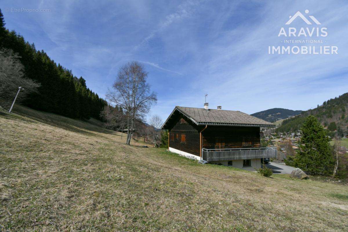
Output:
[[311,175],[329,175],[333,170],[333,156],[324,128],[310,115],[301,129],[300,149],[293,164]]

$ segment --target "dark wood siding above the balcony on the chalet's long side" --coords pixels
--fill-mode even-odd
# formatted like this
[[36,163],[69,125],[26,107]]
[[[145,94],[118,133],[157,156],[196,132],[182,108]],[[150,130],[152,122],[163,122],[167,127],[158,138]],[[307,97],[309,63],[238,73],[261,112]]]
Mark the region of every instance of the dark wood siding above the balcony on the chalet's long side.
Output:
[[[203,148],[215,149],[215,143],[224,142],[224,148],[260,147],[260,127],[223,127],[208,126],[202,133]],[[251,146],[243,146],[244,141],[251,141]]]

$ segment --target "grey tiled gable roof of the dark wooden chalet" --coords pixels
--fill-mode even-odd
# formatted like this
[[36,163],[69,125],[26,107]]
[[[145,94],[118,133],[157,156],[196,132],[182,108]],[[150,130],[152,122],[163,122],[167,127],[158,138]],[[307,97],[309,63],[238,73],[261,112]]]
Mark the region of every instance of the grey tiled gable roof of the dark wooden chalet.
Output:
[[171,119],[172,115],[179,111],[187,118],[191,119],[197,125],[215,125],[215,126],[244,126],[244,127],[276,127],[276,125],[256,118],[249,114],[233,111],[233,110],[215,110],[204,108],[193,108],[175,106],[171,115],[162,126],[162,129],[166,128],[167,122]]

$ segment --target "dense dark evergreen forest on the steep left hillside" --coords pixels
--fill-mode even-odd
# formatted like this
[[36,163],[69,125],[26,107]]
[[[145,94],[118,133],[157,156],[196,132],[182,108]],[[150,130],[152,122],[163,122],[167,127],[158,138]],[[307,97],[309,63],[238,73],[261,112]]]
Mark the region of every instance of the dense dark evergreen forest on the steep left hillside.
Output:
[[44,50],[36,50],[34,43],[25,41],[15,31],[8,31],[1,10],[0,48],[18,53],[25,76],[41,84],[39,93],[31,94],[24,105],[70,118],[99,118],[106,101],[87,88],[84,78],[75,77],[71,70],[56,64]]

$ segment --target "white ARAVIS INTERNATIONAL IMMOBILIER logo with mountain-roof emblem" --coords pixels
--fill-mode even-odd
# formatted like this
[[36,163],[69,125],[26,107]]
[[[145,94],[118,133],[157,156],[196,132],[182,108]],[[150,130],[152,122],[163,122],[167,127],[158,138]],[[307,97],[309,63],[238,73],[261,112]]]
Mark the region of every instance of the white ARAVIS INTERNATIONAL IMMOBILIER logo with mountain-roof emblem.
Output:
[[[308,15],[309,10],[304,11],[303,15],[297,11],[294,15],[290,15],[285,25],[281,27],[278,37],[284,43],[283,46],[268,46],[268,54],[338,54],[338,47],[324,45],[327,43],[327,28],[323,27],[319,20],[313,15]],[[295,19],[302,19],[301,23],[306,23],[307,27],[292,27],[290,26]],[[313,25],[313,26],[309,26]]]

